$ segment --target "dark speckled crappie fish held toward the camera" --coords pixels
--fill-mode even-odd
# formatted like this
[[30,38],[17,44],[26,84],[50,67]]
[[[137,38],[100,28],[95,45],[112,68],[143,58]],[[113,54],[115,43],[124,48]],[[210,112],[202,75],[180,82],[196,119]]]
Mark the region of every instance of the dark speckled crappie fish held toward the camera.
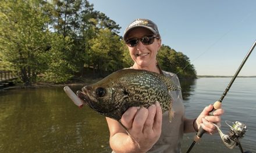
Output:
[[[129,107],[145,107],[159,101],[162,112],[171,111],[171,90],[179,90],[170,78],[146,70],[123,69],[93,85],[84,86],[77,96],[99,114],[119,119]],[[169,113],[170,115],[170,113]]]

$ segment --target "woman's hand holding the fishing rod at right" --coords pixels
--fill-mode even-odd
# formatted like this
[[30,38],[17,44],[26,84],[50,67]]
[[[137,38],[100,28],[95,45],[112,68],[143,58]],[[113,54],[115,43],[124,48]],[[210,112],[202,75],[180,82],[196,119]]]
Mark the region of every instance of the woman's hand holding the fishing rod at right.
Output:
[[212,104],[205,107],[195,121],[197,123],[198,129],[200,128],[200,126],[202,126],[202,128],[209,134],[213,134],[216,132],[216,127],[212,123],[220,125],[221,115],[224,113],[224,110],[220,108],[214,111],[214,116],[210,116],[209,112],[212,110],[212,108],[214,108]]

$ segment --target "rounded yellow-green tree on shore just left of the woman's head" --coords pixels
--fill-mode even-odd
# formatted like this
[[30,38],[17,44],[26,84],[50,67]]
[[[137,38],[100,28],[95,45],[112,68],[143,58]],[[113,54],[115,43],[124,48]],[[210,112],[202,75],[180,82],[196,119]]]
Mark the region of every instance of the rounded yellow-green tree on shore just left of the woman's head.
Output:
[[112,34],[108,28],[100,29],[97,37],[90,40],[88,54],[94,70],[104,75],[104,71],[116,71],[122,67],[122,43],[120,37]]

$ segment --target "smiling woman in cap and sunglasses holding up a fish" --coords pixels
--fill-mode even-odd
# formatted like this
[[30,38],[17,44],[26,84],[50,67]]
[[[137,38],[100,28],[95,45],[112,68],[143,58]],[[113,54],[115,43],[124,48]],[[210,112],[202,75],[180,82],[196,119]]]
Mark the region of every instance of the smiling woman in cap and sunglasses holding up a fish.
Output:
[[[157,53],[161,48],[161,37],[157,25],[147,19],[134,20],[125,31],[123,39],[129,48],[134,64],[131,68],[148,70],[166,75],[179,85],[177,75],[162,71],[157,64]],[[109,126],[109,143],[113,152],[180,152],[183,133],[195,132],[200,126],[213,133],[211,122],[221,121],[222,109],[208,116],[213,106],[205,107],[196,119],[184,116],[184,105],[180,90],[173,91],[174,118],[169,122],[168,112],[162,114],[158,101],[148,108],[131,107],[121,118],[122,124],[106,118]]]

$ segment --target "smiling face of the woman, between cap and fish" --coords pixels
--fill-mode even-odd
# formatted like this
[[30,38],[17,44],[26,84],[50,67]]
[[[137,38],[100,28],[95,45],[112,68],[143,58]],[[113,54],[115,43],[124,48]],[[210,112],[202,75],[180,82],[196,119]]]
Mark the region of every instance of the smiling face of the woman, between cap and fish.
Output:
[[[150,30],[146,28],[135,28],[127,35],[127,39],[131,38],[143,38],[145,36],[154,35]],[[128,46],[128,45],[127,45]],[[157,52],[161,47],[161,39],[154,38],[154,42],[150,45],[143,45],[141,41],[137,46],[130,47],[130,56],[133,59],[134,64],[138,67],[155,67],[157,63]]]

